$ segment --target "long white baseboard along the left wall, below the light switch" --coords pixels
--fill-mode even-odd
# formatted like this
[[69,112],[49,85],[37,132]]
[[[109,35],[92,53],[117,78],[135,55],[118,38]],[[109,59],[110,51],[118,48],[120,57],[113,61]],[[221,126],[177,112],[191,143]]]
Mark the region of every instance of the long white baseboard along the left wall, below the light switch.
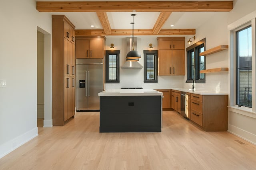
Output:
[[22,135],[0,145],[0,158],[37,136],[38,128],[35,127],[34,129],[31,129],[30,131],[27,131],[26,133],[23,133]]

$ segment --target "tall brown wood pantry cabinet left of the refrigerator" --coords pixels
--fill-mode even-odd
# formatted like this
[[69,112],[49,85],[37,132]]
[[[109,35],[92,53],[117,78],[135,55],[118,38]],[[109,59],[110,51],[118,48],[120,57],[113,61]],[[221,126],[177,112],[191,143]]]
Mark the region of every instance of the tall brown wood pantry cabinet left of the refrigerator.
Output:
[[[52,15],[52,123],[64,125],[75,115],[75,26]],[[63,36],[64,35],[64,36]]]

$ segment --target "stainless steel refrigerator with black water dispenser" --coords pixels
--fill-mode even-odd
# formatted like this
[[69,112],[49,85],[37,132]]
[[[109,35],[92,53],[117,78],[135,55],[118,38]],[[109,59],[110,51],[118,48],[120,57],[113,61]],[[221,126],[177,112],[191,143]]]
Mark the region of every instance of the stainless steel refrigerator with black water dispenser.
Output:
[[76,111],[100,110],[103,59],[76,59]]

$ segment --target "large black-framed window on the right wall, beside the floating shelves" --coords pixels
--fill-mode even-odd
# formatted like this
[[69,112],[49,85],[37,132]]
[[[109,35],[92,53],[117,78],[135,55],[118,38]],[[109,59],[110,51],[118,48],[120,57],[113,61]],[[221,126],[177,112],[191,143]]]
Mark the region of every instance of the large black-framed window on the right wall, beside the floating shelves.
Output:
[[236,31],[236,104],[252,108],[252,26]]

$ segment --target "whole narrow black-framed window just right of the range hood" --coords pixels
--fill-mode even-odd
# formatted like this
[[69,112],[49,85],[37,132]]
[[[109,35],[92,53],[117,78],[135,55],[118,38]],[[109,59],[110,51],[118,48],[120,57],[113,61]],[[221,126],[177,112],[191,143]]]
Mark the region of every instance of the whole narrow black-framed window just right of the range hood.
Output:
[[157,83],[157,50],[144,50],[144,83]]

